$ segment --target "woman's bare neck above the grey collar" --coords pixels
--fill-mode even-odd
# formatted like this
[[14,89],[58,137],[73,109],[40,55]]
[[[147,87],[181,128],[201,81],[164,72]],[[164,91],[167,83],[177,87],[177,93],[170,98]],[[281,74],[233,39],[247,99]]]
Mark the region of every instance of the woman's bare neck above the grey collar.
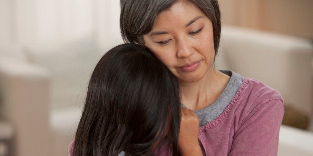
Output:
[[211,105],[224,91],[230,77],[212,68],[195,82],[179,82],[181,102],[191,110]]

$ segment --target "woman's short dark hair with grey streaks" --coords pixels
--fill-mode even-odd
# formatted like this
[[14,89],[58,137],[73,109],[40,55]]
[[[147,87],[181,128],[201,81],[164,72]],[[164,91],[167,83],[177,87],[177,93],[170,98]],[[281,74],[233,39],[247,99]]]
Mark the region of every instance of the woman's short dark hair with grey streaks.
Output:
[[[157,15],[179,0],[120,0],[120,29],[125,43],[145,44],[143,35],[152,30]],[[181,0],[199,7],[213,24],[215,56],[221,36],[221,18],[217,0]]]

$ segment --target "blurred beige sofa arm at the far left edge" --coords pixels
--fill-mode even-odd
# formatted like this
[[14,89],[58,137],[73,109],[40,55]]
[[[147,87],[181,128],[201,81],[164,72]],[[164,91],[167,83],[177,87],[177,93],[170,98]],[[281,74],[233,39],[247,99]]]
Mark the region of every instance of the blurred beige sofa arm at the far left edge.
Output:
[[17,156],[49,156],[49,82],[49,72],[19,48],[0,46],[0,116],[13,126]]

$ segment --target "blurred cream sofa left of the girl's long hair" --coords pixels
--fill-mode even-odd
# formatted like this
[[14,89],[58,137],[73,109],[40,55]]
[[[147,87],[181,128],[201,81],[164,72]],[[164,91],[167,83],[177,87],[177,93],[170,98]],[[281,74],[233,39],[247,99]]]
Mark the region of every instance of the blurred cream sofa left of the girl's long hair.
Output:
[[12,123],[17,156],[64,156],[89,76],[103,54],[95,36],[71,42],[0,45],[0,117]]

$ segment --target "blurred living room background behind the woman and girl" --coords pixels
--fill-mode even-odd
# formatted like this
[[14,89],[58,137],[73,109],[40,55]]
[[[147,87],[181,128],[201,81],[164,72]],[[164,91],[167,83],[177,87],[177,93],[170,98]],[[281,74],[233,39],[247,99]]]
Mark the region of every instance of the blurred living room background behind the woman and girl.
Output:
[[[285,101],[280,156],[312,156],[313,0],[219,0],[216,68]],[[123,43],[119,0],[0,0],[0,156],[66,156],[90,74]]]

